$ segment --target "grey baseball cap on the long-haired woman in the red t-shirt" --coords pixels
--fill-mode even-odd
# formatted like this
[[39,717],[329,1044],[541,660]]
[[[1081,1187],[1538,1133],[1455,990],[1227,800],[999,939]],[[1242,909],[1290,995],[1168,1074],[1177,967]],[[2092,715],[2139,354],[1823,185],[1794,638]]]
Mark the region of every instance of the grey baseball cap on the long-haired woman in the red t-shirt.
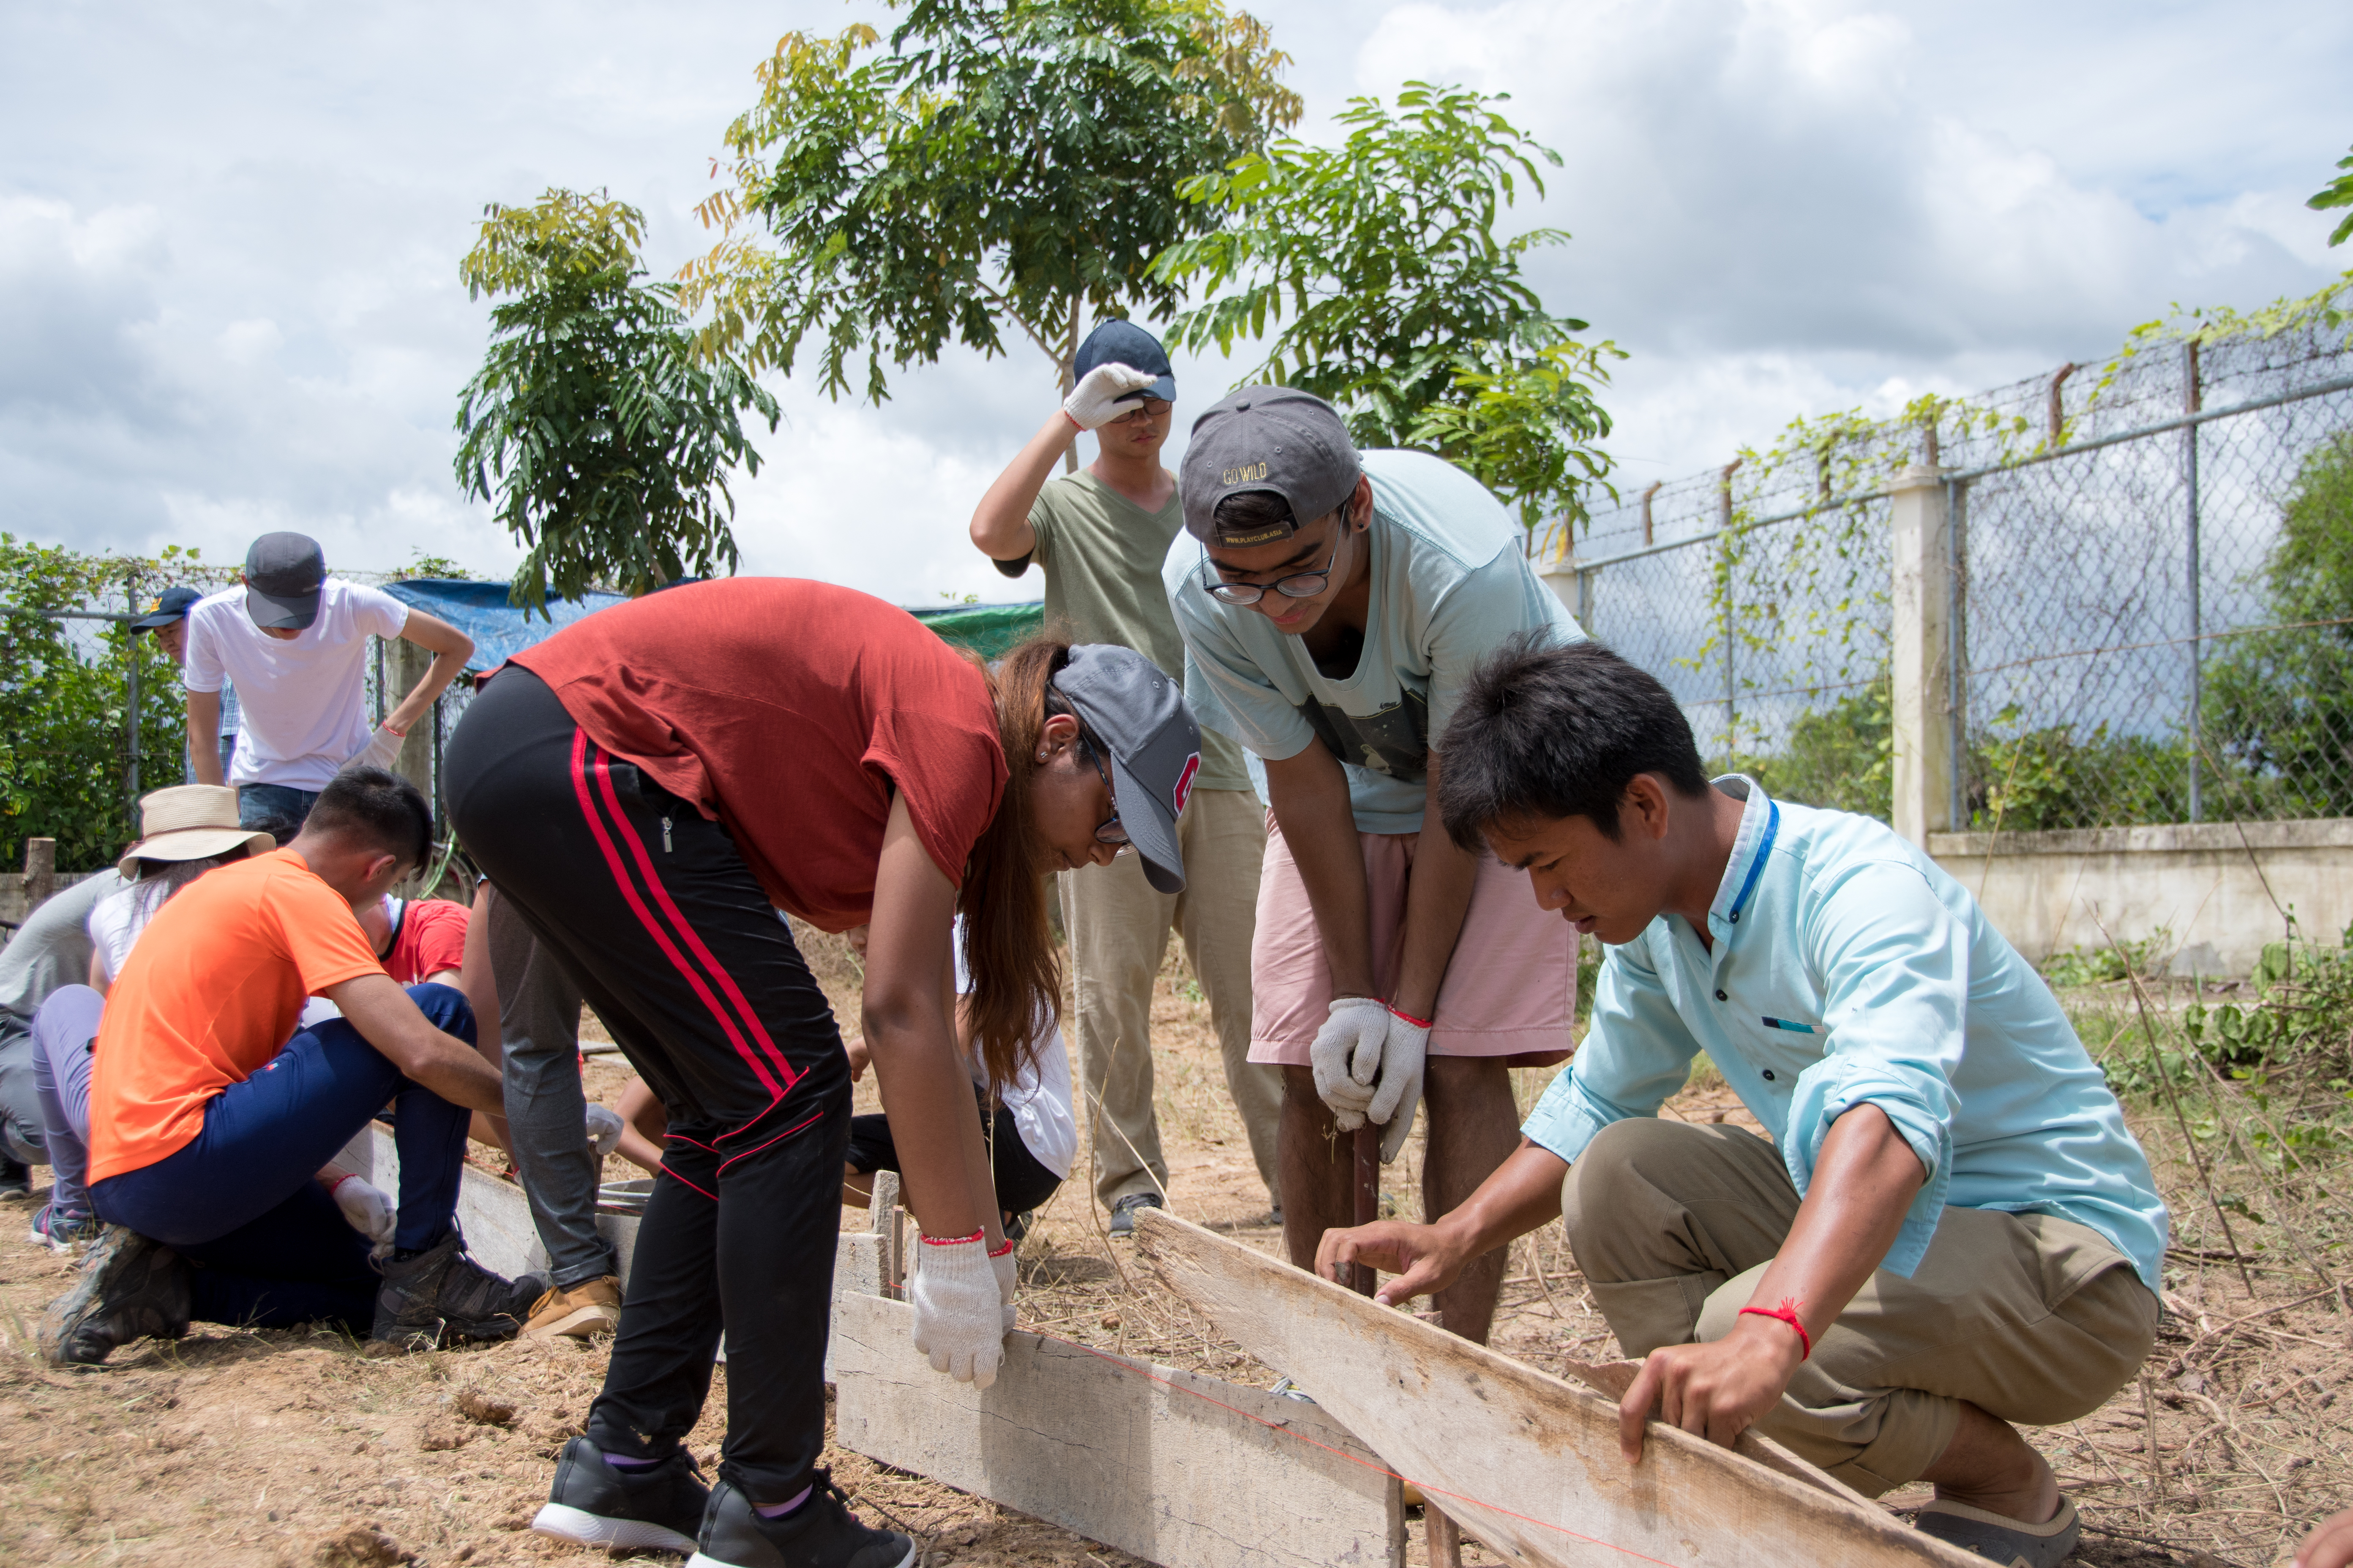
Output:
[[1111,804],[1127,842],[1144,856],[1144,879],[1184,891],[1176,816],[1200,773],[1200,724],[1160,665],[1134,649],[1082,642],[1054,675],[1087,731],[1111,752]]

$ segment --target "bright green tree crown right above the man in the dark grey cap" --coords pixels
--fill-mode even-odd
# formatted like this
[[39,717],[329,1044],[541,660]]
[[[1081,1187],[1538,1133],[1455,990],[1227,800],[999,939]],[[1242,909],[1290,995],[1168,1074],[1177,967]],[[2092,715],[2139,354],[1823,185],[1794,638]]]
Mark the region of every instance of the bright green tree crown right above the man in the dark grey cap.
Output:
[[1506,94],[1407,82],[1395,108],[1351,99],[1339,146],[1292,136],[1186,181],[1219,223],[1155,263],[1205,301],[1176,317],[1193,350],[1273,339],[1254,378],[1332,402],[1360,447],[1438,451],[1515,503],[1525,527],[1581,515],[1609,458],[1595,388],[1614,343],[1551,315],[1520,275],[1567,233],[1504,237],[1504,212],[1560,155],[1494,106]]

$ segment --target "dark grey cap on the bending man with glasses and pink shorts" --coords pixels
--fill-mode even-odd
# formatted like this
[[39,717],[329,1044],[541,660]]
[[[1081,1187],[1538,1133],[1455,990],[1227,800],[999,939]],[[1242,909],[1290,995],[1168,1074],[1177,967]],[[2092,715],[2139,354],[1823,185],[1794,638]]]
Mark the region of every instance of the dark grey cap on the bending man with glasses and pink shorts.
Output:
[[[1271,545],[1334,510],[1362,473],[1348,425],[1329,402],[1289,386],[1245,386],[1193,421],[1193,444],[1176,480],[1184,527],[1205,545]],[[1217,503],[1252,489],[1282,496],[1289,522],[1221,529]]]

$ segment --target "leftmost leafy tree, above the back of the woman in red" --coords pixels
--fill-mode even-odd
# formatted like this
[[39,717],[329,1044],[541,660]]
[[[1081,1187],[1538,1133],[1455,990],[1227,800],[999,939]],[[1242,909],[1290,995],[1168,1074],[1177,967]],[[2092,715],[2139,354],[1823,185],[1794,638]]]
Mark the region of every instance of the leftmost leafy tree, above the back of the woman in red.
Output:
[[471,296],[511,296],[459,393],[456,480],[527,545],[515,604],[736,567],[727,470],[760,473],[741,414],[774,430],[776,400],[696,355],[678,284],[640,282],[642,242],[635,207],[548,190],[492,205],[459,263]]

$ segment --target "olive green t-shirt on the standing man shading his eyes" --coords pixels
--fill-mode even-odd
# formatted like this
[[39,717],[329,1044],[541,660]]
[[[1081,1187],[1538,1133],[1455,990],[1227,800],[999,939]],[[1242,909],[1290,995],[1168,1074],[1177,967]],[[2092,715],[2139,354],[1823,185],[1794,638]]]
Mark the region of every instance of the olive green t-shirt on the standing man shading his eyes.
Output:
[[[1181,529],[1184,505],[1174,489],[1167,505],[1146,512],[1087,470],[1047,480],[1031,503],[1031,531],[1038,534],[1031,559],[1045,567],[1047,628],[1071,642],[1134,649],[1184,682],[1184,639],[1160,585],[1160,564]],[[1247,790],[1240,743],[1202,726],[1193,788]]]

